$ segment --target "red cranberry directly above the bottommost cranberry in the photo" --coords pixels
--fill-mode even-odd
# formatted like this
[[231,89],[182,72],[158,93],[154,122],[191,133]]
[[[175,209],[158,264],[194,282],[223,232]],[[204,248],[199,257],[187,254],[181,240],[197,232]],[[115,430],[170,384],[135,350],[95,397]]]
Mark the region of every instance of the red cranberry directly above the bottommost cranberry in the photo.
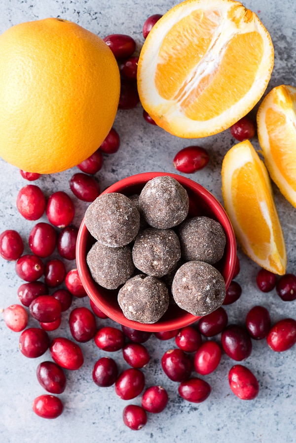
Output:
[[131,400],[141,394],[145,386],[145,376],[140,369],[129,368],[115,381],[115,392],[122,400]]

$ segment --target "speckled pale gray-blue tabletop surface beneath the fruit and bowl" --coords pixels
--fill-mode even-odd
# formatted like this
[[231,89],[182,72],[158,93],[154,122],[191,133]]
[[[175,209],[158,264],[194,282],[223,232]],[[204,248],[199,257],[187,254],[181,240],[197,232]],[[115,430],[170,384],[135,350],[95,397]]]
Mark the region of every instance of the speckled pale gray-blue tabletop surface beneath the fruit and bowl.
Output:
[[[143,44],[142,26],[154,13],[164,13],[175,4],[173,0],[1,0],[0,33],[20,22],[49,16],[73,20],[95,34],[130,34],[137,42],[139,53]],[[258,12],[259,18],[271,34],[275,47],[275,67],[267,90],[281,83],[295,84],[296,71],[296,3],[295,0],[245,0],[244,4]],[[243,57],[243,54],[242,54]],[[121,137],[120,150],[105,159],[97,174],[102,189],[127,175],[149,170],[175,172],[172,159],[182,147],[196,143],[171,136],[151,126],[142,118],[142,108],[119,111],[114,123]],[[257,139],[253,140],[258,148]],[[229,131],[201,139],[198,143],[208,149],[211,160],[207,168],[190,178],[206,186],[221,198],[221,163],[225,152],[235,141]],[[42,176],[38,184],[50,195],[53,191],[69,189],[69,180],[77,171]],[[27,184],[19,171],[0,160],[0,232],[14,228],[25,239],[34,222],[27,222],[15,206],[18,190]],[[288,250],[287,272],[296,266],[296,209],[274,187],[276,204],[283,223]],[[78,226],[86,204],[74,200],[75,224]],[[42,218],[42,220],[45,217]],[[292,316],[296,318],[296,301],[282,302],[275,291],[262,294],[256,286],[259,267],[238,249],[241,272],[237,281],[243,288],[238,302],[226,307],[229,323],[244,323],[248,310],[262,304],[269,308],[272,321]],[[74,263],[69,263],[69,269]],[[17,303],[14,263],[0,260],[0,308]],[[74,306],[88,306],[88,299],[76,300]],[[68,313],[63,315],[62,329],[52,337],[70,336]],[[98,320],[98,326],[113,324]],[[35,323],[31,320],[29,326]],[[127,403],[140,404],[141,397],[126,402],[117,398],[114,388],[98,388],[91,373],[95,361],[106,355],[93,342],[81,345],[85,356],[83,367],[67,372],[68,384],[61,394],[65,409],[55,420],[37,417],[31,408],[35,397],[45,393],[37,382],[37,364],[49,359],[49,353],[38,359],[27,359],[18,349],[19,334],[6,328],[0,317],[0,442],[285,442],[296,441],[296,347],[283,352],[271,351],[265,341],[253,341],[252,355],[244,362],[259,379],[259,396],[250,402],[236,398],[229,389],[227,374],[234,364],[223,355],[217,371],[206,379],[212,386],[210,397],[202,404],[189,404],[177,393],[177,384],[162,372],[160,358],[174,346],[174,340],[158,341],[151,337],[146,342],[151,361],[144,369],[147,386],[161,384],[169,393],[169,405],[158,415],[149,415],[148,424],[139,432],[131,431],[122,423],[122,409]],[[219,337],[217,337],[219,340]],[[127,367],[120,351],[111,355],[119,369]]]

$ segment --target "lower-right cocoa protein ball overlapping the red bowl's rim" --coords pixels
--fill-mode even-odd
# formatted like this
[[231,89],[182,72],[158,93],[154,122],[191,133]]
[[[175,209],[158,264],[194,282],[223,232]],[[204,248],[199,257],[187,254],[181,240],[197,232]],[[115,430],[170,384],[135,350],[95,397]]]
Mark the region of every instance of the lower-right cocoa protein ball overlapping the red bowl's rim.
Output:
[[207,315],[222,305],[225,282],[221,273],[209,263],[191,261],[176,272],[172,294],[182,309],[192,315]]

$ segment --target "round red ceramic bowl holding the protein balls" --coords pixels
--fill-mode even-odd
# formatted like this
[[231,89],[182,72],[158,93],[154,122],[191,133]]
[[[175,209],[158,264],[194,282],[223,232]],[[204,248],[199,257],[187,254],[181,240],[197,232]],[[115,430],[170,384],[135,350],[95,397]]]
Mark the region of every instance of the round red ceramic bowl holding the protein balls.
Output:
[[[226,246],[222,260],[220,260],[215,267],[222,273],[226,287],[228,287],[232,279],[236,260],[235,236],[229,218],[222,205],[203,186],[189,178],[177,174],[146,172],[124,178],[111,185],[102,194],[110,192],[119,192],[127,196],[140,194],[141,190],[149,180],[160,175],[170,175],[171,177],[174,177],[186,189],[189,196],[188,215],[190,217],[206,215],[221,223],[226,235]],[[91,273],[89,272],[86,263],[86,255],[94,241],[95,239],[90,235],[85,226],[84,220],[82,220],[76,243],[76,264],[78,273],[89,298],[112,320],[115,320],[121,325],[138,329],[140,331],[160,332],[179,329],[200,318],[186,312],[177,305],[170,305],[165,314],[156,323],[144,324],[128,320],[123,315],[117,302],[118,289],[110,290],[99,286],[93,280]]]

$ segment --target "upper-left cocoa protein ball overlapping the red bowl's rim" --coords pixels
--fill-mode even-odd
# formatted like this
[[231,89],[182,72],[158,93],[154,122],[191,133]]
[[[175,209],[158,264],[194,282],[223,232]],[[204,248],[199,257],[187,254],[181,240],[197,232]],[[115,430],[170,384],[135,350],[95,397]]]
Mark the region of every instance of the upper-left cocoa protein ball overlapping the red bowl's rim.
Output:
[[86,209],[85,225],[105,246],[125,246],[139,232],[140,214],[134,202],[125,195],[101,194]]

